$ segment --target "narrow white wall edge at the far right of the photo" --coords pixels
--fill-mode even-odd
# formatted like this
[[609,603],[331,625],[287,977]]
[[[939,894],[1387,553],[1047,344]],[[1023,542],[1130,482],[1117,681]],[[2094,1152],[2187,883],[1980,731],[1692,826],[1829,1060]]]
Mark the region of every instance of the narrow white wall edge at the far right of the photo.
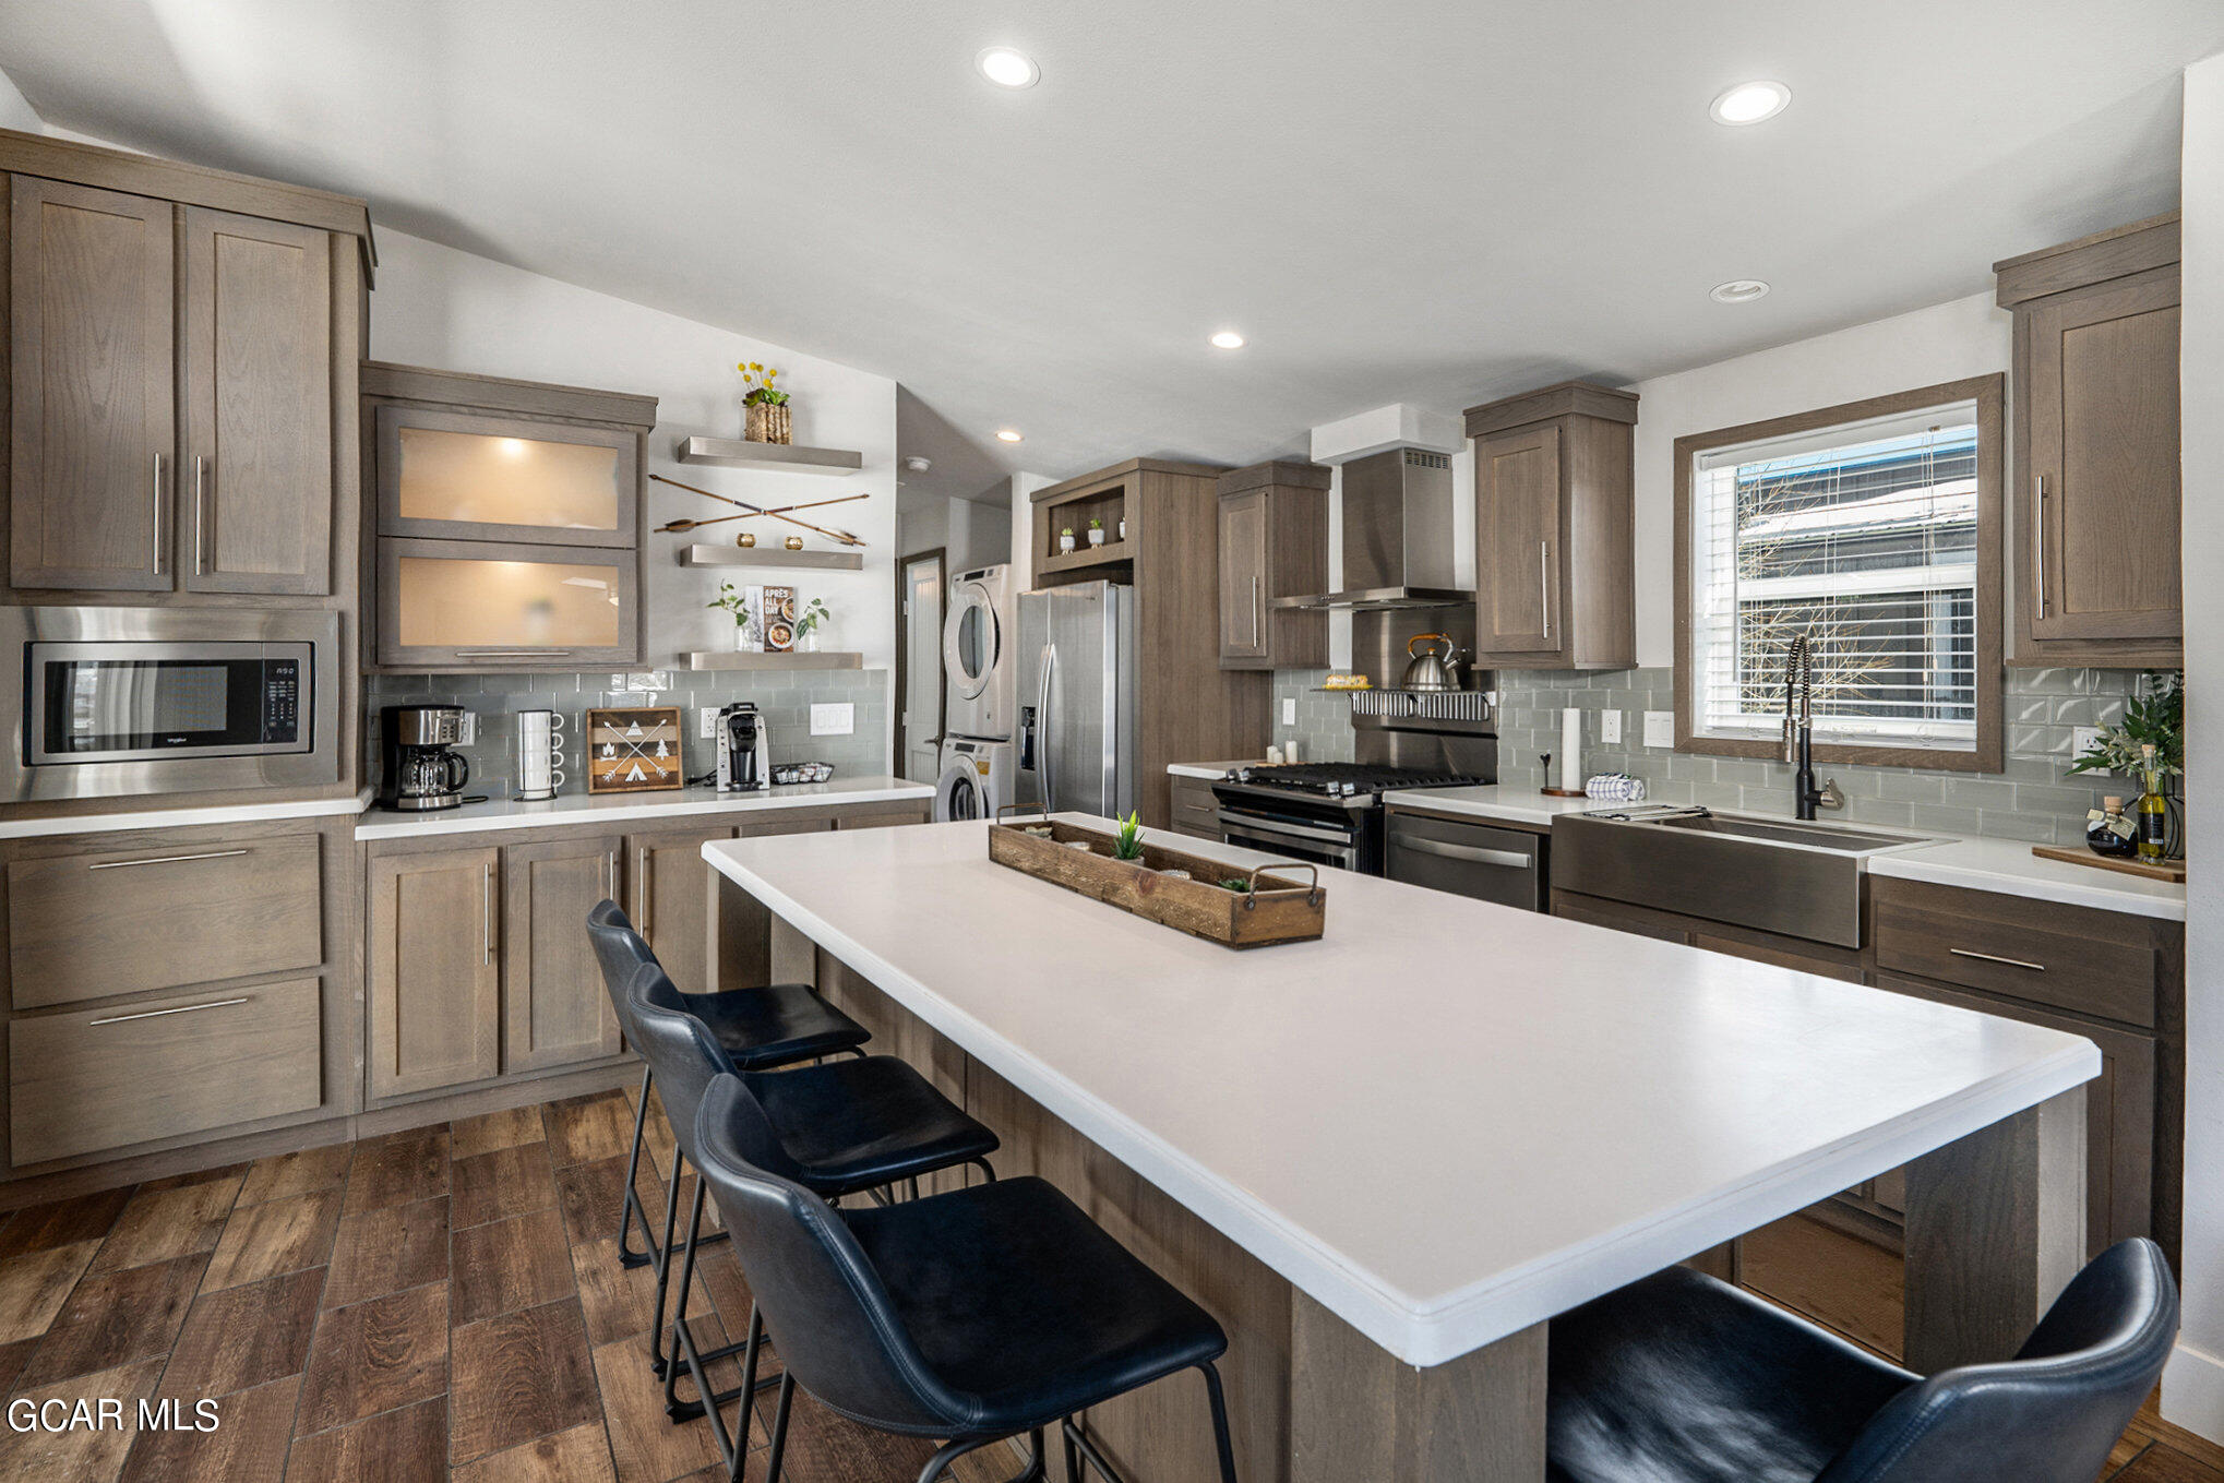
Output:
[[2186,69],[2186,1232],[2162,1414],[2224,1441],[2224,56]]

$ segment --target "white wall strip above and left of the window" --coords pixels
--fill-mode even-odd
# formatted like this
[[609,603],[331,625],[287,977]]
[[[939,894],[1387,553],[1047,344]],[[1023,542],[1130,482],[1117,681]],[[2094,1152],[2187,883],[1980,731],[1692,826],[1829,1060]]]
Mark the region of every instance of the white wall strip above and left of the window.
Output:
[[1637,663],[1675,663],[1675,440],[1717,427],[2008,369],[2013,320],[1990,293],[1641,380],[1637,391]]

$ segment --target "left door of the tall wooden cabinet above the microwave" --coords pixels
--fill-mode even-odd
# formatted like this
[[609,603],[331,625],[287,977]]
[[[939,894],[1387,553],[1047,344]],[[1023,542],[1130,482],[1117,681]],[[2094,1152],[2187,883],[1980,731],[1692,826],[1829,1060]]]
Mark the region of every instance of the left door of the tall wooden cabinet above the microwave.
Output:
[[169,591],[173,207],[9,180],[9,580]]

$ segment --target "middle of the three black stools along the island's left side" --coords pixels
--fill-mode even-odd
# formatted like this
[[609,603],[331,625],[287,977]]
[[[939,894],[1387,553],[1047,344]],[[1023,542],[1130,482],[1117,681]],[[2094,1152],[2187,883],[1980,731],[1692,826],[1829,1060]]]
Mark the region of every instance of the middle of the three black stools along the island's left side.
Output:
[[[665,1370],[665,1410],[674,1421],[692,1421],[705,1407],[678,1399],[678,1356],[687,1361],[696,1394],[707,1396],[712,1387],[705,1365],[747,1347],[749,1363],[743,1387],[716,1399],[729,1401],[749,1394],[756,1390],[756,1343],[763,1336],[763,1323],[752,1310],[749,1336],[709,1354],[698,1354],[687,1332],[687,1292],[694,1285],[696,1245],[703,1227],[703,1167],[696,1163],[694,1149],[696,1112],[703,1087],[714,1076],[734,1074],[736,1067],[703,1021],[685,1009],[665,1007],[669,994],[674,994],[672,981],[654,963],[636,967],[627,981],[634,1045],[656,1069],[656,1096],[672,1121],[681,1156],[698,1174],[694,1210],[687,1212],[685,1258],[678,1272],[681,1296],[672,1318],[676,1358]],[[787,1178],[823,1198],[878,1194],[903,1181],[916,1190],[921,1176],[965,1165],[981,1170],[990,1181],[996,1178],[996,1170],[987,1163],[987,1156],[996,1152],[996,1134],[965,1116],[934,1083],[894,1056],[827,1061],[785,1072],[741,1072],[741,1076],[754,1089],[752,1107],[765,1114],[767,1156],[778,1161]],[[674,1187],[676,1183],[674,1178]],[[667,1250],[669,1238],[667,1227]],[[658,1327],[663,1318],[665,1281],[658,1278]],[[712,1412],[716,1416],[716,1407]],[[727,1447],[725,1419],[716,1416],[714,1427],[721,1447]],[[743,1412],[743,1443],[747,1443],[747,1412]]]

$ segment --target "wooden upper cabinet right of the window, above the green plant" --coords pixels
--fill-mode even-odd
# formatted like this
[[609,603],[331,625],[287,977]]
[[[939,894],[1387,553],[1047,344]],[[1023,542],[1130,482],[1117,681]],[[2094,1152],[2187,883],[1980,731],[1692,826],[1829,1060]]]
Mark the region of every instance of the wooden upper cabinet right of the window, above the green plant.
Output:
[[1995,262],[2015,311],[2015,665],[2177,665],[2177,216]]

